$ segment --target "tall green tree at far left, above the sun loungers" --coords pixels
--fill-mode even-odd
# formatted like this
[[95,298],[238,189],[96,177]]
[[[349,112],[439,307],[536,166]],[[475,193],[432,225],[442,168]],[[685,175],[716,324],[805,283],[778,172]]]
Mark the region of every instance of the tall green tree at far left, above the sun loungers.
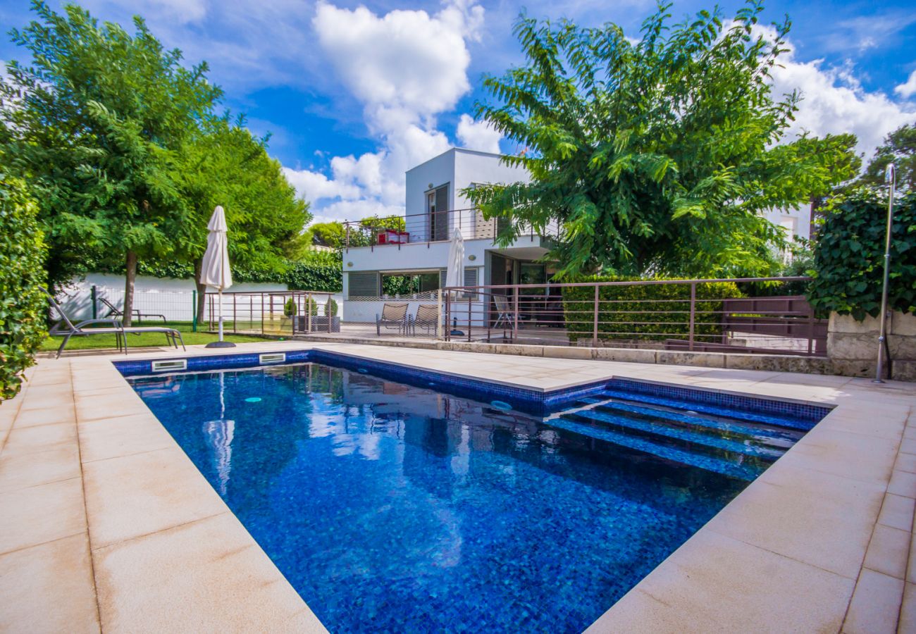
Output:
[[50,281],[82,272],[87,250],[121,258],[129,324],[137,260],[171,252],[188,217],[178,150],[222,92],[205,63],[185,68],[140,17],[131,35],[76,5],[32,10],[38,18],[10,32],[31,62],[8,63],[0,80],[2,159],[38,200]]

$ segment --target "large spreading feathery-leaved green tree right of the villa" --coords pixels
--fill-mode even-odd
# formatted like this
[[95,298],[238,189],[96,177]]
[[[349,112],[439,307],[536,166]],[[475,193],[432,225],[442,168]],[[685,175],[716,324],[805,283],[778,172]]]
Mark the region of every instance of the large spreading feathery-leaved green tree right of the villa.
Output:
[[671,5],[633,42],[621,27],[521,16],[526,63],[485,78],[477,115],[524,150],[516,182],[464,191],[498,241],[561,229],[551,257],[563,276],[769,273],[779,228],[760,213],[810,202],[857,169],[848,139],[784,143],[798,94],[774,98],[788,19],[756,35],[763,5],[671,23]]

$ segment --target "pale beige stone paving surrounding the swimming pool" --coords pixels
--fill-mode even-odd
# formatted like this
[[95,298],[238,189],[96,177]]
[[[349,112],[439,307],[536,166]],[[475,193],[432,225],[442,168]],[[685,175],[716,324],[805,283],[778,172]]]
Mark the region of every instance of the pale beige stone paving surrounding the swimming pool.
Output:
[[[236,350],[308,347],[532,388],[616,376],[835,405],[589,631],[916,631],[916,385],[357,344]],[[0,406],[0,631],[324,631],[112,358],[124,356],[42,359]]]

